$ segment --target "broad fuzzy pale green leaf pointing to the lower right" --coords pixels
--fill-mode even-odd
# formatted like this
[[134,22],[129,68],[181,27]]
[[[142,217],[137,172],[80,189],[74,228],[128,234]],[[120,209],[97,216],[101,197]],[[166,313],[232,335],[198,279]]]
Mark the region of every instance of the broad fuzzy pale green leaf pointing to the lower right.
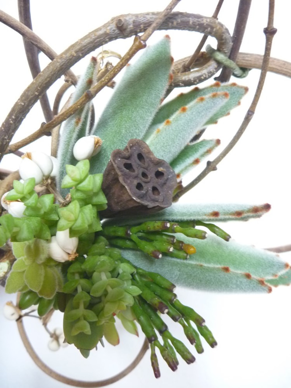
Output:
[[[179,238],[193,243],[185,236]],[[123,250],[123,255],[134,265],[157,272],[176,285],[218,292],[270,292],[264,278],[275,278],[289,268],[269,251],[225,242],[213,235],[195,240],[194,245],[197,252],[188,260],[167,256],[155,260],[129,250]]]

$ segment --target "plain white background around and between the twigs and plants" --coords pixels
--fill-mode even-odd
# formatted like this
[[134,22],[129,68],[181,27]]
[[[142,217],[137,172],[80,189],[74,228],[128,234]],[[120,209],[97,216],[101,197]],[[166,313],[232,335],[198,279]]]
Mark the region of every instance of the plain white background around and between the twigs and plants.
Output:
[[[232,32],[239,1],[226,0],[219,16]],[[122,13],[159,11],[168,3],[160,1],[117,0],[50,0],[31,1],[34,31],[56,52],[60,53],[69,44],[90,30]],[[201,13],[210,16],[216,6],[215,0],[182,0],[176,10]],[[0,0],[0,8],[17,18],[17,1]],[[288,37],[290,36],[291,6],[288,1],[276,3],[272,56],[291,61]],[[251,16],[241,51],[263,53],[267,25],[268,1],[253,1]],[[157,32],[149,44],[165,32]],[[173,56],[179,59],[190,55],[200,35],[168,31],[172,38]],[[131,39],[115,41],[108,46],[123,54]],[[215,42],[212,41],[214,45]],[[104,47],[105,49],[108,47]],[[97,50],[99,52],[100,50]],[[8,27],[0,25],[0,121],[30,83],[31,75],[25,61],[22,38]],[[95,52],[95,54],[97,53]],[[41,54],[41,64],[48,60]],[[80,74],[88,58],[73,70]],[[233,136],[246,113],[255,92],[259,71],[252,70],[248,78],[232,81],[250,88],[242,105],[219,124],[209,128],[207,136],[219,137],[223,144]],[[210,82],[208,82],[210,83]],[[60,85],[60,83],[58,84]],[[261,204],[269,202],[272,210],[260,220],[248,223],[231,222],[224,228],[237,241],[270,247],[290,244],[290,90],[291,80],[268,74],[263,96],[255,117],[236,148],[192,192],[185,196],[188,202],[237,202]],[[51,88],[52,98],[58,87]],[[103,93],[103,94],[102,94]],[[101,111],[104,100],[111,94],[107,89],[96,99],[96,110]],[[97,113],[98,114],[98,113]],[[27,116],[14,140],[33,132],[43,121],[39,106]],[[45,137],[32,148],[41,147],[49,152],[49,138]],[[222,147],[220,147],[222,149]],[[215,156],[215,155],[214,155]],[[214,157],[213,156],[213,157]],[[6,157],[2,166],[17,169],[18,159]],[[291,263],[290,254],[282,258]],[[291,313],[290,294],[287,287],[275,289],[268,295],[215,294],[179,289],[179,299],[193,306],[213,331],[219,346],[212,350],[204,342],[205,353],[197,355],[194,365],[181,361],[178,371],[172,373],[163,361],[160,362],[162,377],[155,380],[150,366],[149,354],[126,378],[114,387],[160,387],[177,386],[196,388],[289,388],[291,386]],[[15,300],[0,290],[0,306],[5,301]],[[60,326],[60,317],[55,317],[50,328]],[[171,330],[175,332],[175,326]],[[66,348],[57,353],[46,348],[48,338],[40,323],[27,319],[25,327],[33,346],[40,357],[53,369],[72,378],[101,380],[110,377],[127,366],[141,347],[143,336],[137,340],[121,330],[121,344],[113,349],[107,345],[83,359],[75,349]],[[177,330],[178,331],[178,330]],[[0,315],[0,382],[2,387],[64,387],[44,375],[30,360],[13,322]],[[193,351],[195,354],[195,350]]]

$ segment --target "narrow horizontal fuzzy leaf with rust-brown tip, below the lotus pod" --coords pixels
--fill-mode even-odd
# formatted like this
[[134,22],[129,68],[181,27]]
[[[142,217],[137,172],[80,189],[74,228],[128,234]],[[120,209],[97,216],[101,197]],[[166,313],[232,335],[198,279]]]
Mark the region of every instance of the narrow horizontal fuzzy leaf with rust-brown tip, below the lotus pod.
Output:
[[146,221],[247,221],[251,218],[259,218],[271,209],[268,203],[262,205],[250,204],[187,204],[173,203],[171,207],[161,210],[158,214],[140,215],[137,217],[120,217],[114,220],[107,219],[103,226],[127,225]]

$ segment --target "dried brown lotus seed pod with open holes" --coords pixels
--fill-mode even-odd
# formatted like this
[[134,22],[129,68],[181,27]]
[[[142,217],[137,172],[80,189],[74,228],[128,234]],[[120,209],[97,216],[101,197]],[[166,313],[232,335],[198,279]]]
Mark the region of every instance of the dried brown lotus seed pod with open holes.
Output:
[[102,190],[108,200],[103,216],[153,213],[171,206],[177,179],[171,166],[139,139],[116,149],[104,171]]

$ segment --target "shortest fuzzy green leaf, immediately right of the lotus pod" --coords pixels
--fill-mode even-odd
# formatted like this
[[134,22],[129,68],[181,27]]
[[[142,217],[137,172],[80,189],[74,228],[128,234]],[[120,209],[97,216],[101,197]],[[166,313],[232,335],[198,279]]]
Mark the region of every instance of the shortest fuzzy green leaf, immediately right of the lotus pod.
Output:
[[171,167],[180,180],[187,172],[196,167],[218,145],[219,139],[201,140],[194,144],[187,144],[179,155],[171,162]]

